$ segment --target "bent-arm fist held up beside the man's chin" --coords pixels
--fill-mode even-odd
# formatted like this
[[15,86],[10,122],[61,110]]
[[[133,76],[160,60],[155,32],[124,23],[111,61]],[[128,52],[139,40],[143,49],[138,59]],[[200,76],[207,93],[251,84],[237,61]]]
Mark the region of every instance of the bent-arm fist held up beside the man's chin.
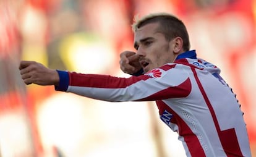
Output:
[[124,73],[135,74],[142,66],[139,63],[139,55],[132,51],[124,51],[120,54],[120,68]]

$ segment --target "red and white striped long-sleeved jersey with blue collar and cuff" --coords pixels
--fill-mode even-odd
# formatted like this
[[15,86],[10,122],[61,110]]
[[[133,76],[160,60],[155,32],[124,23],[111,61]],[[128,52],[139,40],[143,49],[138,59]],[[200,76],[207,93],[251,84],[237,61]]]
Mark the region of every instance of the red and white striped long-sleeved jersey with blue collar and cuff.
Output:
[[243,112],[220,69],[195,51],[129,78],[58,70],[56,90],[105,101],[156,101],[187,156],[251,156]]

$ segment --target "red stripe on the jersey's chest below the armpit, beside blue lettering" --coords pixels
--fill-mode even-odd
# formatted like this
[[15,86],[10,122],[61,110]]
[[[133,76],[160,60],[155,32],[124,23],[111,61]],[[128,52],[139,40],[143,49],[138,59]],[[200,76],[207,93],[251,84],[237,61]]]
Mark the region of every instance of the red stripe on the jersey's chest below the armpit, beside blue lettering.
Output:
[[178,125],[179,135],[184,138],[190,155],[196,157],[205,157],[205,152],[203,151],[197,135],[192,132],[189,125],[187,125],[186,122],[183,121],[183,119],[175,111],[173,111],[173,109],[169,108],[169,106],[163,101],[156,101],[156,104],[158,106],[160,115],[163,114],[164,110],[167,110],[168,112],[173,114],[171,123]]

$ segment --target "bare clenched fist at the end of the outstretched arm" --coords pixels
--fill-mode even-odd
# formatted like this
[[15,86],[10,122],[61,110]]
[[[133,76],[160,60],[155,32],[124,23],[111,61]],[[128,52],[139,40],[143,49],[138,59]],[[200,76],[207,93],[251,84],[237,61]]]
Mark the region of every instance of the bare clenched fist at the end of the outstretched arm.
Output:
[[59,85],[59,74],[35,61],[20,61],[20,75],[25,84]]

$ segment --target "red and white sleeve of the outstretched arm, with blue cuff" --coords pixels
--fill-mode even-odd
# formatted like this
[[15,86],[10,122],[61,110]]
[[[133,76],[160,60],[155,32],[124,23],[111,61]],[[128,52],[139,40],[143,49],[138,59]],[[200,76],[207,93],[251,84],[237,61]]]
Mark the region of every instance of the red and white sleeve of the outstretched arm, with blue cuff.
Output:
[[[164,67],[164,69],[168,68],[172,67],[169,65]],[[150,75],[120,78],[110,75],[58,71],[60,83],[56,86],[56,90],[104,101],[155,101],[181,98],[189,95],[190,80],[187,75],[171,79],[173,75],[176,75],[174,73],[179,71],[166,72],[161,69],[163,74],[161,78],[153,78]]]

